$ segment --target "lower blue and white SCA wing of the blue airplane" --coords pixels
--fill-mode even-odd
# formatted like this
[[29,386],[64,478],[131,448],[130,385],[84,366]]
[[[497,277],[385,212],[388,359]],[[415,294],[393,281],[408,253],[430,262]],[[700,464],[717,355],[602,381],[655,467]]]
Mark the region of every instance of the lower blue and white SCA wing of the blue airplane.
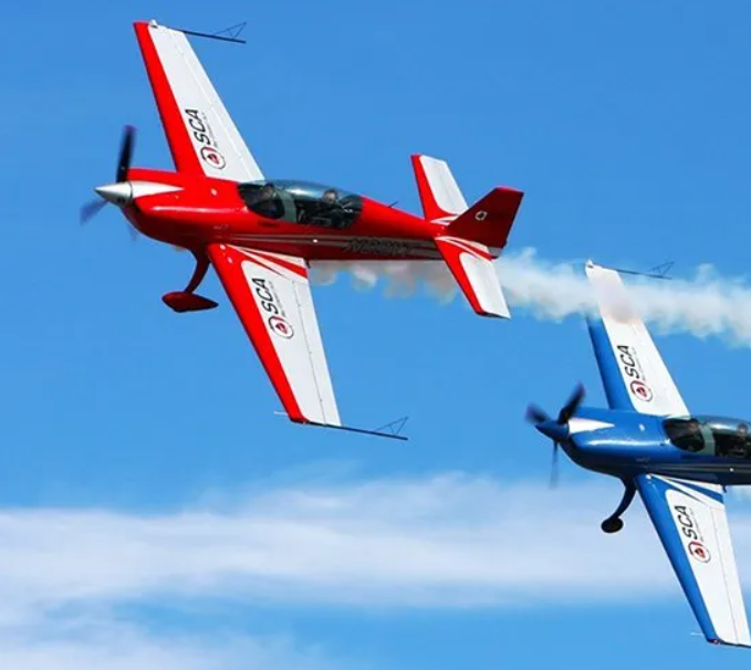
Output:
[[721,486],[657,474],[636,485],[707,640],[751,647]]

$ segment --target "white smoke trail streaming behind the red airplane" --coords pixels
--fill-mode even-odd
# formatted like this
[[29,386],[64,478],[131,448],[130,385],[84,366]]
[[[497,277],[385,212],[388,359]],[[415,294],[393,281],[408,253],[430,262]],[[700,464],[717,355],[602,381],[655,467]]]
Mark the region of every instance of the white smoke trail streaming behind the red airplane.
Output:
[[[551,263],[525,249],[504,254],[497,266],[509,304],[538,318],[561,321],[596,310],[582,263]],[[323,262],[314,269],[323,284],[346,272],[359,289],[373,289],[383,280],[389,296],[413,295],[420,285],[444,303],[457,295],[453,278],[440,261]],[[751,346],[751,285],[744,280],[722,278],[709,264],[698,266],[689,280],[624,279],[639,314],[659,332],[719,336]]]

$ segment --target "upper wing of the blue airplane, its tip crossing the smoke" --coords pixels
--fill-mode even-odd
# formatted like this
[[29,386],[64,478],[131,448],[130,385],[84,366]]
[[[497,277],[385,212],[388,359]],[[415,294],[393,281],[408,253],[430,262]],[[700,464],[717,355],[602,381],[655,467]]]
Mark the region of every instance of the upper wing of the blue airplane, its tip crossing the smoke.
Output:
[[615,270],[587,262],[586,275],[599,308],[590,336],[611,409],[647,415],[687,415],[688,409],[649,331]]

